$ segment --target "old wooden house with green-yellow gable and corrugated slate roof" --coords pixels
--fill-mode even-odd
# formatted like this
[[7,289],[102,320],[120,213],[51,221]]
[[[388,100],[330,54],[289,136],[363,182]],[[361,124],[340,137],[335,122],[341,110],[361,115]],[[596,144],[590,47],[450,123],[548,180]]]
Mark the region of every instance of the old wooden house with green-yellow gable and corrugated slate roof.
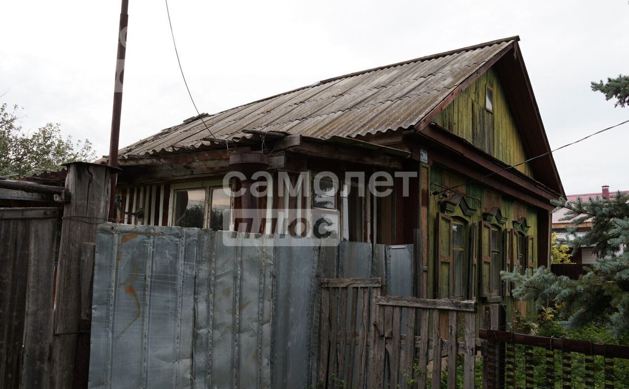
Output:
[[[552,154],[525,162],[550,147],[518,40],[363,70],[186,119],[120,150],[126,214],[118,217],[244,231],[238,212],[253,208],[258,222],[247,232],[307,236],[330,217],[338,239],[415,243],[420,297],[503,304],[507,321],[515,310],[525,315],[499,271],[548,265],[549,201],[564,190]],[[239,163],[270,173],[264,197],[235,199],[223,190]],[[311,195],[307,184],[324,171],[339,177],[325,184],[335,190]],[[304,172],[308,182],[299,186]],[[391,173],[391,191],[355,195],[367,184],[346,172],[365,180]],[[282,190],[288,185],[297,189]],[[305,222],[282,222],[278,212]]]

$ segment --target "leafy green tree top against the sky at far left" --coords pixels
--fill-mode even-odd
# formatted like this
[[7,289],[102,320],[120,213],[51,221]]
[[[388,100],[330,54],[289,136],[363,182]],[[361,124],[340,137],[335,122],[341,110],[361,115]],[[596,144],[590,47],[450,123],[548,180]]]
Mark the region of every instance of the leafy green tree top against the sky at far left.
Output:
[[62,138],[59,124],[24,131],[20,112],[18,106],[0,106],[0,177],[24,177],[41,170],[57,170],[62,163],[96,158],[89,140]]

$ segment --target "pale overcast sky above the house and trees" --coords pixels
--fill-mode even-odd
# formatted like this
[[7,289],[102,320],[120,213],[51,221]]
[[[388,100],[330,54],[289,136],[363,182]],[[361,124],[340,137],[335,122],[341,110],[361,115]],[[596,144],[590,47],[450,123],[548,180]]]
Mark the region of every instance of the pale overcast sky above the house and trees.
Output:
[[[553,148],[629,119],[592,80],[629,73],[626,0],[170,0],[192,96],[218,112],[318,80],[520,35]],[[513,5],[511,5],[513,4]],[[23,126],[60,123],[108,153],[120,1],[4,1],[0,93]],[[130,0],[120,145],[196,115],[165,3]],[[628,190],[629,124],[555,153],[568,194]]]

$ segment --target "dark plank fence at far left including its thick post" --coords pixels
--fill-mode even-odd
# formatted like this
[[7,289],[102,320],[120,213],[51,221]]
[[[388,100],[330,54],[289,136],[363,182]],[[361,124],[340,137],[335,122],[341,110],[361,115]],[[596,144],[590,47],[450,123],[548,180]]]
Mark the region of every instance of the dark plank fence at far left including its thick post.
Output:
[[3,202],[57,205],[0,208],[0,389],[87,387],[94,242],[107,221],[110,169],[70,163],[64,187],[0,180]]

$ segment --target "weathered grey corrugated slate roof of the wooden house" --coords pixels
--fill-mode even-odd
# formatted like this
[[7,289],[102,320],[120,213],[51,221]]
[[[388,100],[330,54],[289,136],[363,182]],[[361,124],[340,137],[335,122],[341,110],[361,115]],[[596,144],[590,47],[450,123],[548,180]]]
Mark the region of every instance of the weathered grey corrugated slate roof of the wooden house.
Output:
[[329,139],[409,128],[515,40],[506,38],[343,75],[189,119],[121,149],[120,156],[216,148],[217,141],[208,138],[237,141],[250,136],[243,133],[247,130]]

